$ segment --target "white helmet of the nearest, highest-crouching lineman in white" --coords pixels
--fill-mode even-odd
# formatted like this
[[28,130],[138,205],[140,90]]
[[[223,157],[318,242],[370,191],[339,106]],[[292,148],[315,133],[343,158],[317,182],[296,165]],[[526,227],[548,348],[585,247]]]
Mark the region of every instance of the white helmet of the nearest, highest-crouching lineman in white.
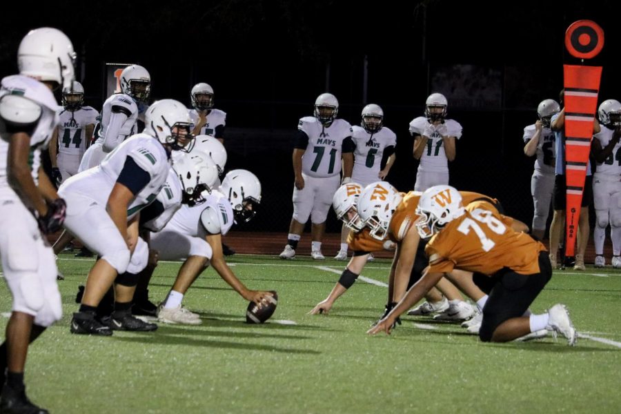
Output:
[[[190,131],[194,124],[188,108],[175,99],[155,101],[145,113],[144,133],[155,137],[173,150],[188,152],[193,146]],[[175,129],[176,130],[173,130]]]

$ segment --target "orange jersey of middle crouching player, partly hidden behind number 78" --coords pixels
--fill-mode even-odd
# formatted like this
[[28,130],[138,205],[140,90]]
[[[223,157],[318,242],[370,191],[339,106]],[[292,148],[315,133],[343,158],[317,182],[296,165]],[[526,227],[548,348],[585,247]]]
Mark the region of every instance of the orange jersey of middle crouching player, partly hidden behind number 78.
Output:
[[[467,206],[475,200],[489,200],[490,203],[497,203],[497,200],[491,197],[471,191],[460,191],[460,195],[462,195],[462,204],[464,206]],[[406,234],[408,234],[408,230],[411,228],[412,224],[417,221],[419,216],[416,214],[416,208],[418,207],[420,196],[421,193],[410,191],[404,195],[401,203],[397,206],[395,214],[391,219],[391,224],[388,226],[388,237],[390,237],[393,242],[401,242]],[[489,203],[488,205],[491,206]],[[495,211],[497,212],[497,210]]]

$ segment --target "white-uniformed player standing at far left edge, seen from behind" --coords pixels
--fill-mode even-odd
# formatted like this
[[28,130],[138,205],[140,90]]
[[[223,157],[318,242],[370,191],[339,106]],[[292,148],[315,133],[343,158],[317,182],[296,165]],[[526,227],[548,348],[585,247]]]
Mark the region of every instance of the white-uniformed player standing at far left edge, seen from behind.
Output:
[[2,413],[48,413],[26,397],[23,371],[28,344],[62,317],[57,268],[44,235],[62,226],[66,204],[43,172],[41,149],[58,124],[52,90],[71,85],[74,61],[63,32],[31,30],[17,52],[19,75],[1,81],[0,256],[13,297],[0,346]]

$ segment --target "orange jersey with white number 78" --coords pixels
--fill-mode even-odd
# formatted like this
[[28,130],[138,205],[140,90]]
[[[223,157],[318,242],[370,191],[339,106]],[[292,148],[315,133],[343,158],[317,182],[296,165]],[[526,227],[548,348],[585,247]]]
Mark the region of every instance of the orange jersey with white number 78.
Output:
[[466,206],[466,213],[433,235],[425,252],[432,273],[458,268],[493,275],[502,268],[522,275],[539,273],[538,257],[546,248],[511,228],[513,219],[485,202]]

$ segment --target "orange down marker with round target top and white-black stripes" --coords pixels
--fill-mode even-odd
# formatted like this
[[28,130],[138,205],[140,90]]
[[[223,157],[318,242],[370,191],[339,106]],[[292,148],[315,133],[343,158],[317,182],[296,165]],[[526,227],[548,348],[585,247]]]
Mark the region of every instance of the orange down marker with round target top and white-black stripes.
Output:
[[[591,59],[604,46],[604,31],[593,21],[576,21],[565,33],[565,46],[573,57]],[[563,72],[566,138],[564,163],[567,185],[565,256],[574,256],[602,68],[564,65]]]

